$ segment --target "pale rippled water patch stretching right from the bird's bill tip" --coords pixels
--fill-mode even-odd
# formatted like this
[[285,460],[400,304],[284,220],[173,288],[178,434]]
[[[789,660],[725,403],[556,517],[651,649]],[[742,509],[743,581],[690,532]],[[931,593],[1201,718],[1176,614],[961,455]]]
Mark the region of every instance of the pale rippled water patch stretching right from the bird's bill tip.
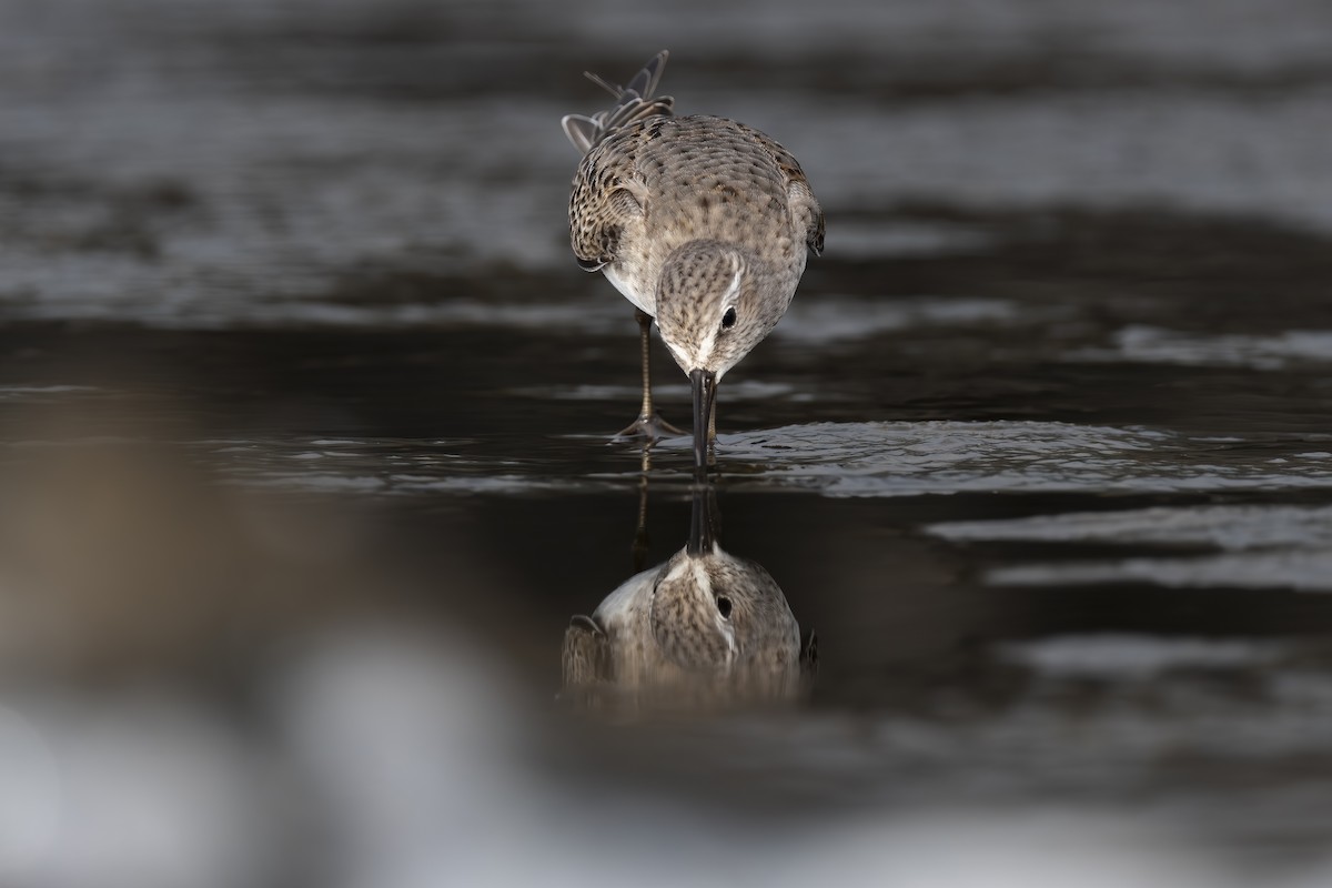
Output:
[[[671,439],[659,447],[687,442]],[[1175,493],[1332,486],[1320,458],[1245,453],[1142,427],[1062,422],[856,422],[722,435],[747,479],[829,497]]]

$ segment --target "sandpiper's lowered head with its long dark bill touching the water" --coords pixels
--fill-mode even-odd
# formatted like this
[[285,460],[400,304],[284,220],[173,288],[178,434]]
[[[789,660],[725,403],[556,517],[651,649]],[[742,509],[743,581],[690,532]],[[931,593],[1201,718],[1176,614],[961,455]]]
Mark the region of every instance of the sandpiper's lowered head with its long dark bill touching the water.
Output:
[[697,466],[707,451],[717,383],[777,326],[789,302],[758,257],[733,244],[689,241],[662,266],[657,326],[694,389]]

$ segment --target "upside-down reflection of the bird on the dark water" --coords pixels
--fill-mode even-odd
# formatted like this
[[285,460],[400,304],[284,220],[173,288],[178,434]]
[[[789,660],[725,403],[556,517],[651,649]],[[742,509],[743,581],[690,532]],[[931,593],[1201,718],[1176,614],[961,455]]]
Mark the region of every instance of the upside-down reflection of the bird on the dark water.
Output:
[[591,616],[570,620],[563,686],[575,704],[710,708],[794,700],[809,686],[814,634],[802,640],[786,595],[761,564],[718,545],[713,487],[695,486],[693,505],[682,550],[625,580]]

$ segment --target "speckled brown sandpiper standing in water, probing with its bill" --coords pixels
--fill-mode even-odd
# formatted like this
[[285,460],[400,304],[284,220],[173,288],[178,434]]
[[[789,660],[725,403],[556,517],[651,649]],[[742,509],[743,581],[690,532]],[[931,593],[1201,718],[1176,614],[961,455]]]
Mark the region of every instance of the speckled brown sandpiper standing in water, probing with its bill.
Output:
[[795,296],[807,252],[823,249],[823,212],[805,172],[763,133],[723,117],[677,117],[653,97],[661,52],[627,87],[565,133],[582,162],[569,201],[578,264],[601,270],[638,309],[643,402],[621,434],[671,431],[653,410],[653,320],[694,394],[694,465],[715,437],[717,385],[773,330]]

